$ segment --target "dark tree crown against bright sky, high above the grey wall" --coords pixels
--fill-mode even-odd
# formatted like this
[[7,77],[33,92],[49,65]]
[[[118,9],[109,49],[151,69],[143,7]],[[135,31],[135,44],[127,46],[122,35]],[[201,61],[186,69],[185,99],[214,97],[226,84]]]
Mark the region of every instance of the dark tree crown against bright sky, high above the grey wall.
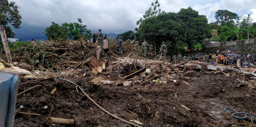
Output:
[[236,24],[239,21],[239,16],[238,14],[230,12],[228,10],[218,10],[215,13],[215,19],[217,20],[216,23],[221,25],[226,25],[227,22],[231,24]]

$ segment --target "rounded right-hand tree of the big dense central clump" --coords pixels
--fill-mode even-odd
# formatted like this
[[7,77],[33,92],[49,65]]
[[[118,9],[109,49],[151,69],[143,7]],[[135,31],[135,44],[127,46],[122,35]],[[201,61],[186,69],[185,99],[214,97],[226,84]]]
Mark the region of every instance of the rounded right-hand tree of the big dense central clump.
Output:
[[208,34],[209,26],[206,16],[199,15],[198,11],[188,7],[182,8],[177,13],[177,22],[181,25],[181,40],[191,49],[197,42],[203,43],[203,39]]

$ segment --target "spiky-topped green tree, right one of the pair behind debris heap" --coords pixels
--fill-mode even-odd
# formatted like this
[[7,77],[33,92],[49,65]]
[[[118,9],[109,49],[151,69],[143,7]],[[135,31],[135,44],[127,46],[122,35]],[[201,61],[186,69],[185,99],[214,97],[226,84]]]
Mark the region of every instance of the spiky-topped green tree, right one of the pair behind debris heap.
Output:
[[78,18],[78,23],[63,23],[62,27],[65,29],[68,29],[69,33],[69,38],[78,40],[80,37],[84,37],[85,39],[91,38],[92,33],[90,30],[88,30],[86,25],[82,24],[82,19]]

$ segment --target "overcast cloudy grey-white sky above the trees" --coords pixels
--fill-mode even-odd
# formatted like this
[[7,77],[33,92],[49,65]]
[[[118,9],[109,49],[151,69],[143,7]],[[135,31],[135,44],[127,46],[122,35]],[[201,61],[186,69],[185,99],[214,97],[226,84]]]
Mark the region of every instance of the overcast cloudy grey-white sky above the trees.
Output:
[[[22,26],[46,28],[52,22],[77,22],[92,32],[121,33],[134,30],[145,11],[155,0],[9,0],[20,7]],[[215,22],[215,12],[227,9],[238,16],[250,14],[256,22],[256,0],[159,0],[160,8],[166,12],[178,12],[191,6],[200,15]],[[42,33],[42,32],[40,32]]]

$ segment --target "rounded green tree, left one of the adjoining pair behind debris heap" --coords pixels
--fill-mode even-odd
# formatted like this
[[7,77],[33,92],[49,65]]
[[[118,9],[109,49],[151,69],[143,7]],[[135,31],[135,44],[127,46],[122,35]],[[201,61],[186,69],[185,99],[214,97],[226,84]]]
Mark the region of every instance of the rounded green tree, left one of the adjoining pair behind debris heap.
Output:
[[46,37],[51,38],[52,40],[67,40],[69,38],[69,30],[54,22],[52,22],[52,25],[47,27],[43,33]]

